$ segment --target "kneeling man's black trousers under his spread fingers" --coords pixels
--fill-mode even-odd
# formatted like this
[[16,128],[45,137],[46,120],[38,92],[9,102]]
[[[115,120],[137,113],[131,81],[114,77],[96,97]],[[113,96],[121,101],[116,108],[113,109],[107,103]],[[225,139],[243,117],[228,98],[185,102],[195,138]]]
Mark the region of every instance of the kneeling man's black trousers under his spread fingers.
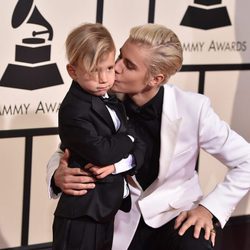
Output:
[[211,250],[210,240],[204,239],[201,230],[199,239],[193,237],[194,227],[190,227],[183,236],[174,229],[175,218],[160,228],[151,228],[141,218],[134,238],[128,250]]

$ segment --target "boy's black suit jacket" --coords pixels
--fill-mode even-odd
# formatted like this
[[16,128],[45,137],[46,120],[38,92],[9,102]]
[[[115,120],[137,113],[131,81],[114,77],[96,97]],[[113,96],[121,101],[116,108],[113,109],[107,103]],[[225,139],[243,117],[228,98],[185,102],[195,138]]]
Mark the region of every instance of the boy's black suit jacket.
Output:
[[[125,112],[120,103],[121,112]],[[124,114],[117,114],[126,123]],[[59,136],[62,145],[71,152],[69,166],[110,165],[133,153],[133,142],[126,132],[115,130],[112,118],[100,97],[85,92],[77,82],[72,83],[59,110]],[[144,145],[143,145],[144,146]],[[140,146],[134,150],[137,167],[144,157]],[[138,158],[138,159],[137,159]],[[98,180],[96,187],[83,196],[62,194],[55,215],[66,218],[89,216],[98,222],[112,218],[122,202],[130,210],[130,197],[123,200],[124,177],[109,175]],[[124,205],[124,204],[123,204]]]

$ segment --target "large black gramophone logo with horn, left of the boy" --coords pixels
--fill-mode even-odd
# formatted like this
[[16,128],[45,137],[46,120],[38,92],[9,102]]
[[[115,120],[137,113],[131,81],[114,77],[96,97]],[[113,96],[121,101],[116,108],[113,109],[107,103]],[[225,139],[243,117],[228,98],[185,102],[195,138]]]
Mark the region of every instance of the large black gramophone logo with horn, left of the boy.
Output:
[[50,63],[49,42],[53,39],[53,29],[33,5],[33,0],[19,0],[12,15],[11,24],[14,29],[26,23],[34,24],[35,30],[31,37],[23,38],[22,43],[16,45],[16,63],[7,65],[0,85],[34,90],[63,84],[56,63]]

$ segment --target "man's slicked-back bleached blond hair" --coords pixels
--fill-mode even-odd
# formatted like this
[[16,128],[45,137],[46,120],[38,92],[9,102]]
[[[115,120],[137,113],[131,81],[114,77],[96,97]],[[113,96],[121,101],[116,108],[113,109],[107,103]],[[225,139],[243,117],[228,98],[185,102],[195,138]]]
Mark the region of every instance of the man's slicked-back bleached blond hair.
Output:
[[145,24],[132,28],[128,41],[149,48],[149,74],[164,75],[163,81],[180,70],[183,50],[177,35],[159,24]]

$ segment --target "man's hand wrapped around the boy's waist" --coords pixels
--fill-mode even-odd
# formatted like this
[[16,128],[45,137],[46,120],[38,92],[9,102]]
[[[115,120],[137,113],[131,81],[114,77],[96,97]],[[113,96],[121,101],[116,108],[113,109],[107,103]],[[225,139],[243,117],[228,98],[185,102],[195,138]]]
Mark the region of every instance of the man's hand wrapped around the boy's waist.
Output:
[[95,188],[95,178],[81,168],[69,168],[69,151],[66,149],[59,167],[54,173],[54,181],[64,193],[80,196],[87,193],[88,189]]

